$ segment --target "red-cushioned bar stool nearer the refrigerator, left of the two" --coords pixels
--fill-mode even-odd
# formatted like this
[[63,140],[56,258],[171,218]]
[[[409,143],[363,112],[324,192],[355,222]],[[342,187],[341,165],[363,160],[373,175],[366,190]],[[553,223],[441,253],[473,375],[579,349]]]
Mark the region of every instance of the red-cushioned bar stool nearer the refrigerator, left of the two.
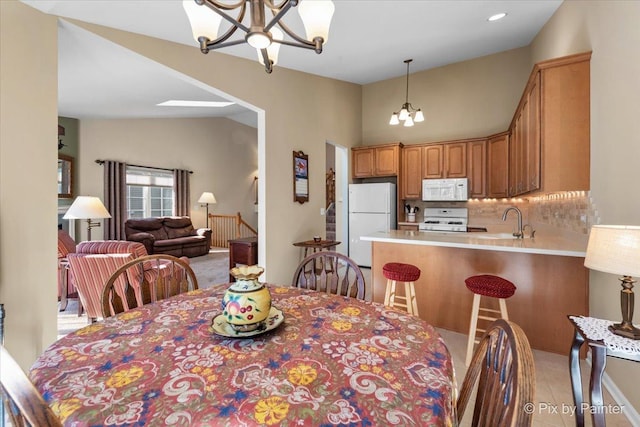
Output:
[[[382,267],[382,274],[387,278],[387,289],[384,294],[384,305],[401,307],[409,314],[418,315],[414,282],[420,278],[420,269],[415,265],[389,262]],[[396,282],[404,282],[404,296],[396,295]],[[403,302],[396,302],[399,299]]]

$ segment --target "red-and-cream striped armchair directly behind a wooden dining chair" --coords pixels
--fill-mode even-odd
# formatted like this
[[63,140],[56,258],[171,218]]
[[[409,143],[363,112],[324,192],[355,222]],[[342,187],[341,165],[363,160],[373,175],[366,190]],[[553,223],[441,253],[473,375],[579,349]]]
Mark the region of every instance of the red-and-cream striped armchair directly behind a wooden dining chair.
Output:
[[102,290],[111,275],[127,262],[145,255],[147,250],[142,243],[121,240],[81,242],[75,253],[67,255],[89,319],[102,317]]

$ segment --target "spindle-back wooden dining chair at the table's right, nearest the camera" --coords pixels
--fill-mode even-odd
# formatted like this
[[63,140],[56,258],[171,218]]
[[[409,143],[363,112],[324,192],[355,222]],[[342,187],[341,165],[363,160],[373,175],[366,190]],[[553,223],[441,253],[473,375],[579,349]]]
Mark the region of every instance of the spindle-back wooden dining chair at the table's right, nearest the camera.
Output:
[[532,423],[536,372],[529,340],[513,322],[498,319],[481,338],[460,388],[458,422],[477,385],[472,426],[526,427]]

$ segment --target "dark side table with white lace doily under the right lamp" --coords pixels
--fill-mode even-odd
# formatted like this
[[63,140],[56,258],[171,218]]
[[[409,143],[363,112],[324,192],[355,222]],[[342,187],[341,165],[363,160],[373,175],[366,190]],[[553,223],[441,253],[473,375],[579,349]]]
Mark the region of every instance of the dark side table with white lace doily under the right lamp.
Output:
[[[602,398],[602,374],[604,368],[607,365],[607,356],[617,357],[624,360],[632,360],[634,362],[640,362],[640,351],[627,352],[617,350],[609,347],[605,339],[600,338],[606,336],[609,333],[607,327],[609,323],[603,319],[588,319],[590,322],[590,330],[586,330],[583,326],[579,325],[576,318],[580,316],[567,316],[569,322],[575,329],[573,336],[573,343],[571,344],[571,352],[569,354],[569,369],[571,373],[571,389],[573,390],[573,403],[576,407],[576,426],[584,426],[584,406],[582,396],[582,375],[580,373],[580,347],[583,344],[587,344],[591,349],[591,380],[589,383],[589,394],[591,399],[591,407],[597,408],[604,406],[604,400]],[[595,330],[597,329],[597,330]],[[590,332],[591,331],[591,332]],[[617,337],[617,336],[616,336]],[[618,337],[621,340],[628,340],[630,343],[634,342],[629,338]],[[605,426],[605,412],[604,410],[592,410],[591,419],[595,427]]]

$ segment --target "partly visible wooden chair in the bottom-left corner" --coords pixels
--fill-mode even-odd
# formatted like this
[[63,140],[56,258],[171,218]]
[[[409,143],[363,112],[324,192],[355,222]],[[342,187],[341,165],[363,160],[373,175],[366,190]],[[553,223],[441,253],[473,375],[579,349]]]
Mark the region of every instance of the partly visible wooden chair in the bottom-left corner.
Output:
[[0,345],[0,396],[14,427],[62,426],[40,392],[3,345]]

